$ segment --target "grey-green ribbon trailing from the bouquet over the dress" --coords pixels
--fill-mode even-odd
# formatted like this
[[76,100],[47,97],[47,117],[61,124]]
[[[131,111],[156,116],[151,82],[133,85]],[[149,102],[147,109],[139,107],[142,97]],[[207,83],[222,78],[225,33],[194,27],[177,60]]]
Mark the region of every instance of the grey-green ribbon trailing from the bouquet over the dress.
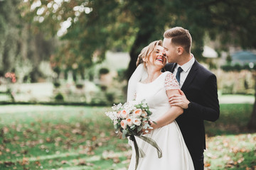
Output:
[[[141,140],[144,140],[145,142],[148,142],[150,145],[152,145],[152,147],[156,148],[157,150],[157,154],[158,157],[161,158],[162,157],[162,152],[160,147],[156,144],[156,142],[154,140],[152,140],[149,137],[145,137],[145,136],[137,136],[139,137]],[[129,136],[129,139],[132,140],[132,142],[134,142],[134,149],[135,149],[135,153],[136,153],[136,165],[135,165],[135,170],[137,169],[137,166],[139,164],[139,153],[141,154],[141,157],[144,157],[144,152],[142,151],[142,149],[139,149],[137,141],[134,137],[134,135]]]

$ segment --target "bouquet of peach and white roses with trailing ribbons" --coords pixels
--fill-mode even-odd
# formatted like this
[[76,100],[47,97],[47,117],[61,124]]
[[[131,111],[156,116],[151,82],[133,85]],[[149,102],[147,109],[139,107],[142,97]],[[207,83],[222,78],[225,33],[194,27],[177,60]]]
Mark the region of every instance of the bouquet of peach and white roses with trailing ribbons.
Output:
[[[112,111],[105,113],[114,124],[115,132],[121,132],[122,138],[129,137],[129,140],[134,142],[134,149],[136,152],[136,169],[139,162],[139,151],[141,157],[144,157],[144,152],[139,149],[136,137],[148,142],[150,145],[156,148],[159,158],[161,158],[161,149],[154,140],[149,137],[143,136],[143,132],[149,132],[151,128],[149,106],[146,101],[128,101],[127,103],[119,103],[118,105],[112,106]],[[155,122],[153,122],[155,123]]]

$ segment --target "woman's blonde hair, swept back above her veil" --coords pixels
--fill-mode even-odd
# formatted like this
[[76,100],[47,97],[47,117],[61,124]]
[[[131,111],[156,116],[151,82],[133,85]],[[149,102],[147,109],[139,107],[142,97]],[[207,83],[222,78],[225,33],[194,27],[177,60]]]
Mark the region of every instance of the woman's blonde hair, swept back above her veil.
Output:
[[138,67],[139,64],[142,64],[142,63],[144,63],[144,67],[146,67],[146,62],[144,62],[143,59],[149,60],[149,56],[154,51],[154,49],[157,45],[162,46],[163,45],[162,40],[153,41],[149,45],[147,45],[146,47],[144,47],[142,49],[142,51],[140,52],[140,54],[137,58],[137,62],[136,62],[137,67]]

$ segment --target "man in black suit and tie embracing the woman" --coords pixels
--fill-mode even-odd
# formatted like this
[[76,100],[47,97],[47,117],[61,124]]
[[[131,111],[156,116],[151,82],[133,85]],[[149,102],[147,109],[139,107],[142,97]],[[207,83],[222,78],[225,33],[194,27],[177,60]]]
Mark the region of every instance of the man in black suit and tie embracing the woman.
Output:
[[[203,169],[206,134],[203,120],[215,121],[220,115],[217,80],[191,54],[192,38],[188,30],[175,27],[164,33],[164,49],[169,64],[166,71],[176,75],[181,95],[171,96],[171,106],[181,106],[176,118],[196,170]],[[170,151],[171,152],[171,151]]]

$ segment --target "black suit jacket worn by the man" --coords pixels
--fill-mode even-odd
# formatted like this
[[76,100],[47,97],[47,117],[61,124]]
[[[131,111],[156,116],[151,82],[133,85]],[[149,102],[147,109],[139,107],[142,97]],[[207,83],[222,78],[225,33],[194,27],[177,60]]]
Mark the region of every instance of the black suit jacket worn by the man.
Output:
[[[174,72],[176,64],[166,64],[166,71]],[[191,102],[188,109],[176,118],[192,159],[201,156],[206,149],[206,133],[203,120],[215,121],[220,115],[217,79],[205,67],[194,62],[181,90]]]

